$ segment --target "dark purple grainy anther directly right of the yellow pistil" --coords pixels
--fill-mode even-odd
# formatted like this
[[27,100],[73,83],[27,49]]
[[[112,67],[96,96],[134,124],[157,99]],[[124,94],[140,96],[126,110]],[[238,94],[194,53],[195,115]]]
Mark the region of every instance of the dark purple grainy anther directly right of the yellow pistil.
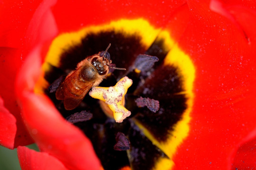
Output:
[[150,98],[137,98],[135,100],[138,107],[147,106],[149,110],[156,112],[159,109],[159,101]]

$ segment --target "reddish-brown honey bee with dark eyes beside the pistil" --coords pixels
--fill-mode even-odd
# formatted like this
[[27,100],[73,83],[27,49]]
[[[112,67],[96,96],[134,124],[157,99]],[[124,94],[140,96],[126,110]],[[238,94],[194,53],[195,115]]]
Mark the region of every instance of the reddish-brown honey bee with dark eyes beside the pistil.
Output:
[[58,86],[55,96],[57,100],[64,100],[66,110],[75,109],[82,102],[88,91],[103,81],[108,74],[109,68],[126,70],[125,68],[109,66],[112,62],[110,54],[107,52],[110,45],[105,51],[86,57],[79,62],[76,70],[71,71]]

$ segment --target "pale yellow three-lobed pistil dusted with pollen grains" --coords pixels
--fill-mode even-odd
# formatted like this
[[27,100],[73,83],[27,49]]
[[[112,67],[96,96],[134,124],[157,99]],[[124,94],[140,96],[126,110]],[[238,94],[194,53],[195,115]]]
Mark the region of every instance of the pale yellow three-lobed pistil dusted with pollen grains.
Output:
[[125,76],[113,87],[93,87],[89,95],[105,102],[113,112],[115,121],[121,123],[123,119],[131,115],[131,111],[124,107],[124,96],[132,84],[133,80]]

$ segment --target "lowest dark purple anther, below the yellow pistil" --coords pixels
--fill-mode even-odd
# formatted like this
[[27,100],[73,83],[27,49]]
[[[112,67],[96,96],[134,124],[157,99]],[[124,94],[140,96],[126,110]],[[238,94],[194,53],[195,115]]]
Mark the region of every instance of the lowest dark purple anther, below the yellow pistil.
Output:
[[117,132],[115,141],[114,150],[126,151],[130,149],[130,141],[122,132]]

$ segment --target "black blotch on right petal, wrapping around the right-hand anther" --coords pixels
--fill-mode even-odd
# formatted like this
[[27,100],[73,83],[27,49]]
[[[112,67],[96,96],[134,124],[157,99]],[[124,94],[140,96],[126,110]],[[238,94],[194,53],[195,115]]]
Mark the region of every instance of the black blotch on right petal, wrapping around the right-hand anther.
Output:
[[158,141],[166,141],[173,126],[181,119],[187,109],[182,77],[172,66],[160,66],[135,94],[144,98],[158,100],[161,105],[156,113],[150,110],[139,109],[135,118],[145,126]]

